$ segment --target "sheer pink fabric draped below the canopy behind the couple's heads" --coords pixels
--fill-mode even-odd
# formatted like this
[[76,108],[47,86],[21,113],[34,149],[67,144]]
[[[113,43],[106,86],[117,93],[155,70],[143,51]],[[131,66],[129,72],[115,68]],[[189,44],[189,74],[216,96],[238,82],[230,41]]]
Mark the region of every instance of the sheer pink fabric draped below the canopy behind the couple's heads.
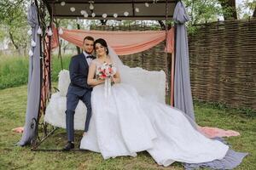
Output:
[[[174,28],[170,31],[84,31],[67,30],[62,28],[63,34],[59,36],[67,42],[71,42],[82,48],[85,36],[95,39],[103,38],[118,55],[136,54],[153,48],[160,42],[166,40],[166,52],[172,53],[174,49]],[[58,32],[53,29],[52,48],[58,46]],[[166,35],[167,34],[167,35]],[[167,37],[167,38],[166,38]]]

